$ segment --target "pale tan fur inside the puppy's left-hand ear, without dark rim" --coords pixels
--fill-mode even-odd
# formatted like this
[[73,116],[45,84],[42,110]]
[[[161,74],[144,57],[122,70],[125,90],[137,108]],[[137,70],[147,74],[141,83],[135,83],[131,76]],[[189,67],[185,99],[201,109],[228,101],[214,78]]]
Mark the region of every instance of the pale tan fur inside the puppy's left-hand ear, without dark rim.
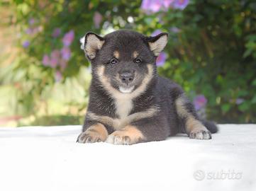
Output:
[[99,40],[96,35],[88,35],[87,36],[87,44],[84,47],[84,52],[90,59],[94,59],[96,56],[96,50],[101,50],[102,45],[104,44],[104,40]]

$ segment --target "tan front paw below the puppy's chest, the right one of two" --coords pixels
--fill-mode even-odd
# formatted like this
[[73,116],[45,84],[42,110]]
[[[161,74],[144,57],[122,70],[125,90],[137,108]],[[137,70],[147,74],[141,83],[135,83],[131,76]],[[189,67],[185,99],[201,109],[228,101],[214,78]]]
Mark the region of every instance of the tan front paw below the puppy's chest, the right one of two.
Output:
[[132,125],[127,125],[122,130],[113,132],[106,139],[111,144],[136,144],[145,139],[140,130]]

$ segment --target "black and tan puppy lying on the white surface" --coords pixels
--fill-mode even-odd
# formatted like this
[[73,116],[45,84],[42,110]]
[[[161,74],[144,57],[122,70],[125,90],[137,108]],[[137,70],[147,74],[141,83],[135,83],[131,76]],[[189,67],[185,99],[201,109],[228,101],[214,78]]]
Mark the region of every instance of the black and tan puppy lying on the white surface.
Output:
[[199,120],[177,83],[157,75],[156,58],[167,37],[118,30],[82,38],[92,80],[79,143],[136,144],[179,132],[192,139],[211,139],[211,132],[217,132],[213,122]]

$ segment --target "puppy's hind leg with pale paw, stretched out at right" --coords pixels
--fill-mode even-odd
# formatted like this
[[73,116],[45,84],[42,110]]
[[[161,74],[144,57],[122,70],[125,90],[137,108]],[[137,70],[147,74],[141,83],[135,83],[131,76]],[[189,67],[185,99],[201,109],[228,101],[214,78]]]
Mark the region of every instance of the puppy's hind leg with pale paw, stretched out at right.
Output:
[[177,115],[184,120],[185,131],[191,139],[211,139],[211,132],[201,123],[194,105],[182,94],[175,100]]

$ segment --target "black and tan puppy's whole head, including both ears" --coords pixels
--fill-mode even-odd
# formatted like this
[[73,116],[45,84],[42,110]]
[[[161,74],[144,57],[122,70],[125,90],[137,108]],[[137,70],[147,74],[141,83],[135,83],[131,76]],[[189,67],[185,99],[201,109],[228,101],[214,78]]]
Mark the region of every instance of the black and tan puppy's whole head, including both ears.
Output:
[[81,48],[91,62],[92,74],[111,92],[145,91],[154,78],[156,58],[167,44],[167,33],[146,37],[118,30],[100,37],[87,33]]

